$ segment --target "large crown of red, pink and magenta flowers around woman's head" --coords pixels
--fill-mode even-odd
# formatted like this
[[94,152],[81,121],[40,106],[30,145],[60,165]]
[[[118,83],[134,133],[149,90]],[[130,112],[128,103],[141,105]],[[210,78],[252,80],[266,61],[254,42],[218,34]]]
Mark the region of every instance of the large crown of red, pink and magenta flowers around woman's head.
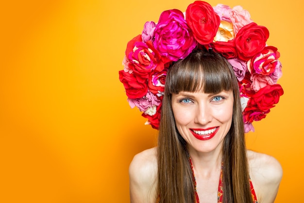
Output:
[[177,9],[162,12],[157,23],[148,21],[141,35],[127,44],[119,71],[131,108],[137,107],[146,124],[158,129],[167,71],[173,61],[195,49],[212,48],[235,72],[245,132],[253,121],[266,117],[283,95],[277,84],[282,65],[277,48],[266,45],[269,31],[257,25],[241,6],[230,8],[197,0],[188,5],[186,18]]

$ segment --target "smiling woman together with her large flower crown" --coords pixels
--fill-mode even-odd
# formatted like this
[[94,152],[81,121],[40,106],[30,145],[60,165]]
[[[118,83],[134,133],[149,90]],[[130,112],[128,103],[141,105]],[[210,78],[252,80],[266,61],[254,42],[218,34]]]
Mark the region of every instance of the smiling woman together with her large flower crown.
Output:
[[130,165],[131,203],[274,202],[282,168],[244,140],[283,94],[268,37],[240,6],[198,0],[128,42],[119,79],[159,128],[158,146]]

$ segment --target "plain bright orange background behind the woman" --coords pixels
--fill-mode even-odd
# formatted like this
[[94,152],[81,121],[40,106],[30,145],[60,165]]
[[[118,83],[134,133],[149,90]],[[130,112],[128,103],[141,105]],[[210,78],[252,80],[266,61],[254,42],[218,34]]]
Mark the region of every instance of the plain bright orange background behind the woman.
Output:
[[[160,13],[192,0],[10,0],[0,6],[0,202],[128,203],[128,166],[157,131],[130,109],[118,80],[127,42]],[[302,0],[242,5],[270,30],[285,94],[254,123],[248,148],[276,157],[276,203],[299,202],[304,181]],[[301,201],[301,200],[300,200]]]

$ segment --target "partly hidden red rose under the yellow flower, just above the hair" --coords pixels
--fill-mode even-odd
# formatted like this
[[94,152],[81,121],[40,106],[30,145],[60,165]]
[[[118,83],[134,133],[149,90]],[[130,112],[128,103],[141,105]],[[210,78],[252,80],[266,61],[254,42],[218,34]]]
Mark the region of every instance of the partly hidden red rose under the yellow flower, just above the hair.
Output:
[[225,41],[217,41],[211,43],[211,47],[213,48],[214,52],[218,52],[223,55],[225,58],[236,58],[236,44],[235,40]]

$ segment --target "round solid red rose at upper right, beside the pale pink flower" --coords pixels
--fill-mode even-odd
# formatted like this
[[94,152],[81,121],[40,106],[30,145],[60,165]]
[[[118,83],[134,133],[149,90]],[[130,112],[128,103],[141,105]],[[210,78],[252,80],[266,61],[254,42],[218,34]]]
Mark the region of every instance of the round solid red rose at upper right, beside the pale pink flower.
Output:
[[261,52],[266,46],[269,31],[264,26],[252,22],[242,27],[236,34],[236,50],[238,57],[248,61],[252,56]]

